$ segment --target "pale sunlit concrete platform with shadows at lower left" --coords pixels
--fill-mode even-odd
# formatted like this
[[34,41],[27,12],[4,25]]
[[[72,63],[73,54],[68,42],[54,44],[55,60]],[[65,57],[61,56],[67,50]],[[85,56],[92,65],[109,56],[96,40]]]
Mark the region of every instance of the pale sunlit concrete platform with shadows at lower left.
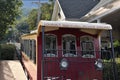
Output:
[[0,61],[0,80],[27,80],[19,60]]

